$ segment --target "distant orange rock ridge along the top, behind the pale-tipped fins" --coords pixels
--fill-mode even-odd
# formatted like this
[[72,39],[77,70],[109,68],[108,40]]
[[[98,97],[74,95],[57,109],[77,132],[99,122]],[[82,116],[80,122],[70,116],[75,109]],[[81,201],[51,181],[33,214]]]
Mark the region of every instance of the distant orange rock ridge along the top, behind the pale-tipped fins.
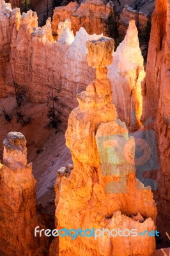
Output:
[[[123,3],[120,3],[120,5],[118,3],[116,4],[116,9],[120,14],[120,19],[117,17],[120,38],[126,35],[130,20],[135,20],[139,29],[143,31],[149,19],[149,13],[139,12],[139,15],[137,15],[137,11],[128,6],[130,3],[126,3],[127,1],[124,1],[125,6],[123,10],[121,10]],[[132,1],[131,6],[133,3],[134,1]],[[143,5],[144,4],[142,4],[142,6]],[[111,31],[109,31],[109,29],[113,28],[108,27],[107,21],[110,19],[111,15],[113,15],[112,13],[113,3],[111,1],[86,0],[81,4],[77,4],[76,1],[70,2],[67,6],[55,8],[52,19],[52,33],[55,38],[57,38],[59,22],[70,19],[72,21],[74,35],[76,31],[79,31],[79,29],[83,27],[89,35],[93,33],[97,35],[104,33],[105,36],[110,36]],[[112,17],[110,22],[113,22],[113,19]]]

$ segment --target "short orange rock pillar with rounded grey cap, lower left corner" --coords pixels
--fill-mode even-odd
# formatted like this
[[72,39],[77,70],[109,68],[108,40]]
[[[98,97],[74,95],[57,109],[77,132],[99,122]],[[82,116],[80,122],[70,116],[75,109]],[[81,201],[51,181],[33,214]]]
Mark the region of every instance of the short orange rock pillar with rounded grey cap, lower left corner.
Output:
[[0,254],[43,255],[46,237],[35,237],[42,219],[36,213],[35,179],[27,164],[26,139],[10,132],[4,140],[4,164],[0,170]]

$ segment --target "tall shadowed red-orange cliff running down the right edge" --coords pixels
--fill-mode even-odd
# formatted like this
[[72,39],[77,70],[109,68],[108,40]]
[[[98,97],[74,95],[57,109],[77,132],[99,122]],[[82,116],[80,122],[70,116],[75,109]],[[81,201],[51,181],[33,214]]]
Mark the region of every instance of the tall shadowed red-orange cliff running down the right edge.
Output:
[[157,173],[159,209],[169,217],[169,125],[170,125],[170,3],[156,1],[152,17],[151,38],[146,68],[146,83],[143,88],[143,120],[151,116],[151,128],[157,131],[160,153],[160,169]]

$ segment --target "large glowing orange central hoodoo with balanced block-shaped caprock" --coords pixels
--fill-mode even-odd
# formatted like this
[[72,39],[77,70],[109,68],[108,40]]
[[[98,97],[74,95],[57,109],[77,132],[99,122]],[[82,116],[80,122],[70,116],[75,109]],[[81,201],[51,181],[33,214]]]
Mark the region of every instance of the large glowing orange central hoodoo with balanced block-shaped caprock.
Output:
[[[88,41],[86,47],[97,78],[77,95],[79,107],[69,116],[66,145],[73,170],[56,181],[58,229],[154,230],[157,207],[150,187],[144,188],[135,178],[134,138],[128,136],[112,104],[106,66],[112,61],[114,40],[102,37]],[[154,250],[155,238],[148,236],[109,237],[106,232],[97,239],[59,238],[59,255],[151,256]]]

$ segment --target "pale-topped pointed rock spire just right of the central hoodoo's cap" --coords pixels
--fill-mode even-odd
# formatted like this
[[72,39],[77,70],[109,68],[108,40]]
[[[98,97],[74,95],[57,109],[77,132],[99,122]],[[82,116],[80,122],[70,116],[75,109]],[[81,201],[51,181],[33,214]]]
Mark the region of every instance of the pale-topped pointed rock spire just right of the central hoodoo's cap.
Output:
[[108,67],[112,100],[119,118],[133,129],[140,124],[143,108],[141,83],[145,77],[143,56],[134,20],[130,21],[125,39],[112,56],[112,63]]

